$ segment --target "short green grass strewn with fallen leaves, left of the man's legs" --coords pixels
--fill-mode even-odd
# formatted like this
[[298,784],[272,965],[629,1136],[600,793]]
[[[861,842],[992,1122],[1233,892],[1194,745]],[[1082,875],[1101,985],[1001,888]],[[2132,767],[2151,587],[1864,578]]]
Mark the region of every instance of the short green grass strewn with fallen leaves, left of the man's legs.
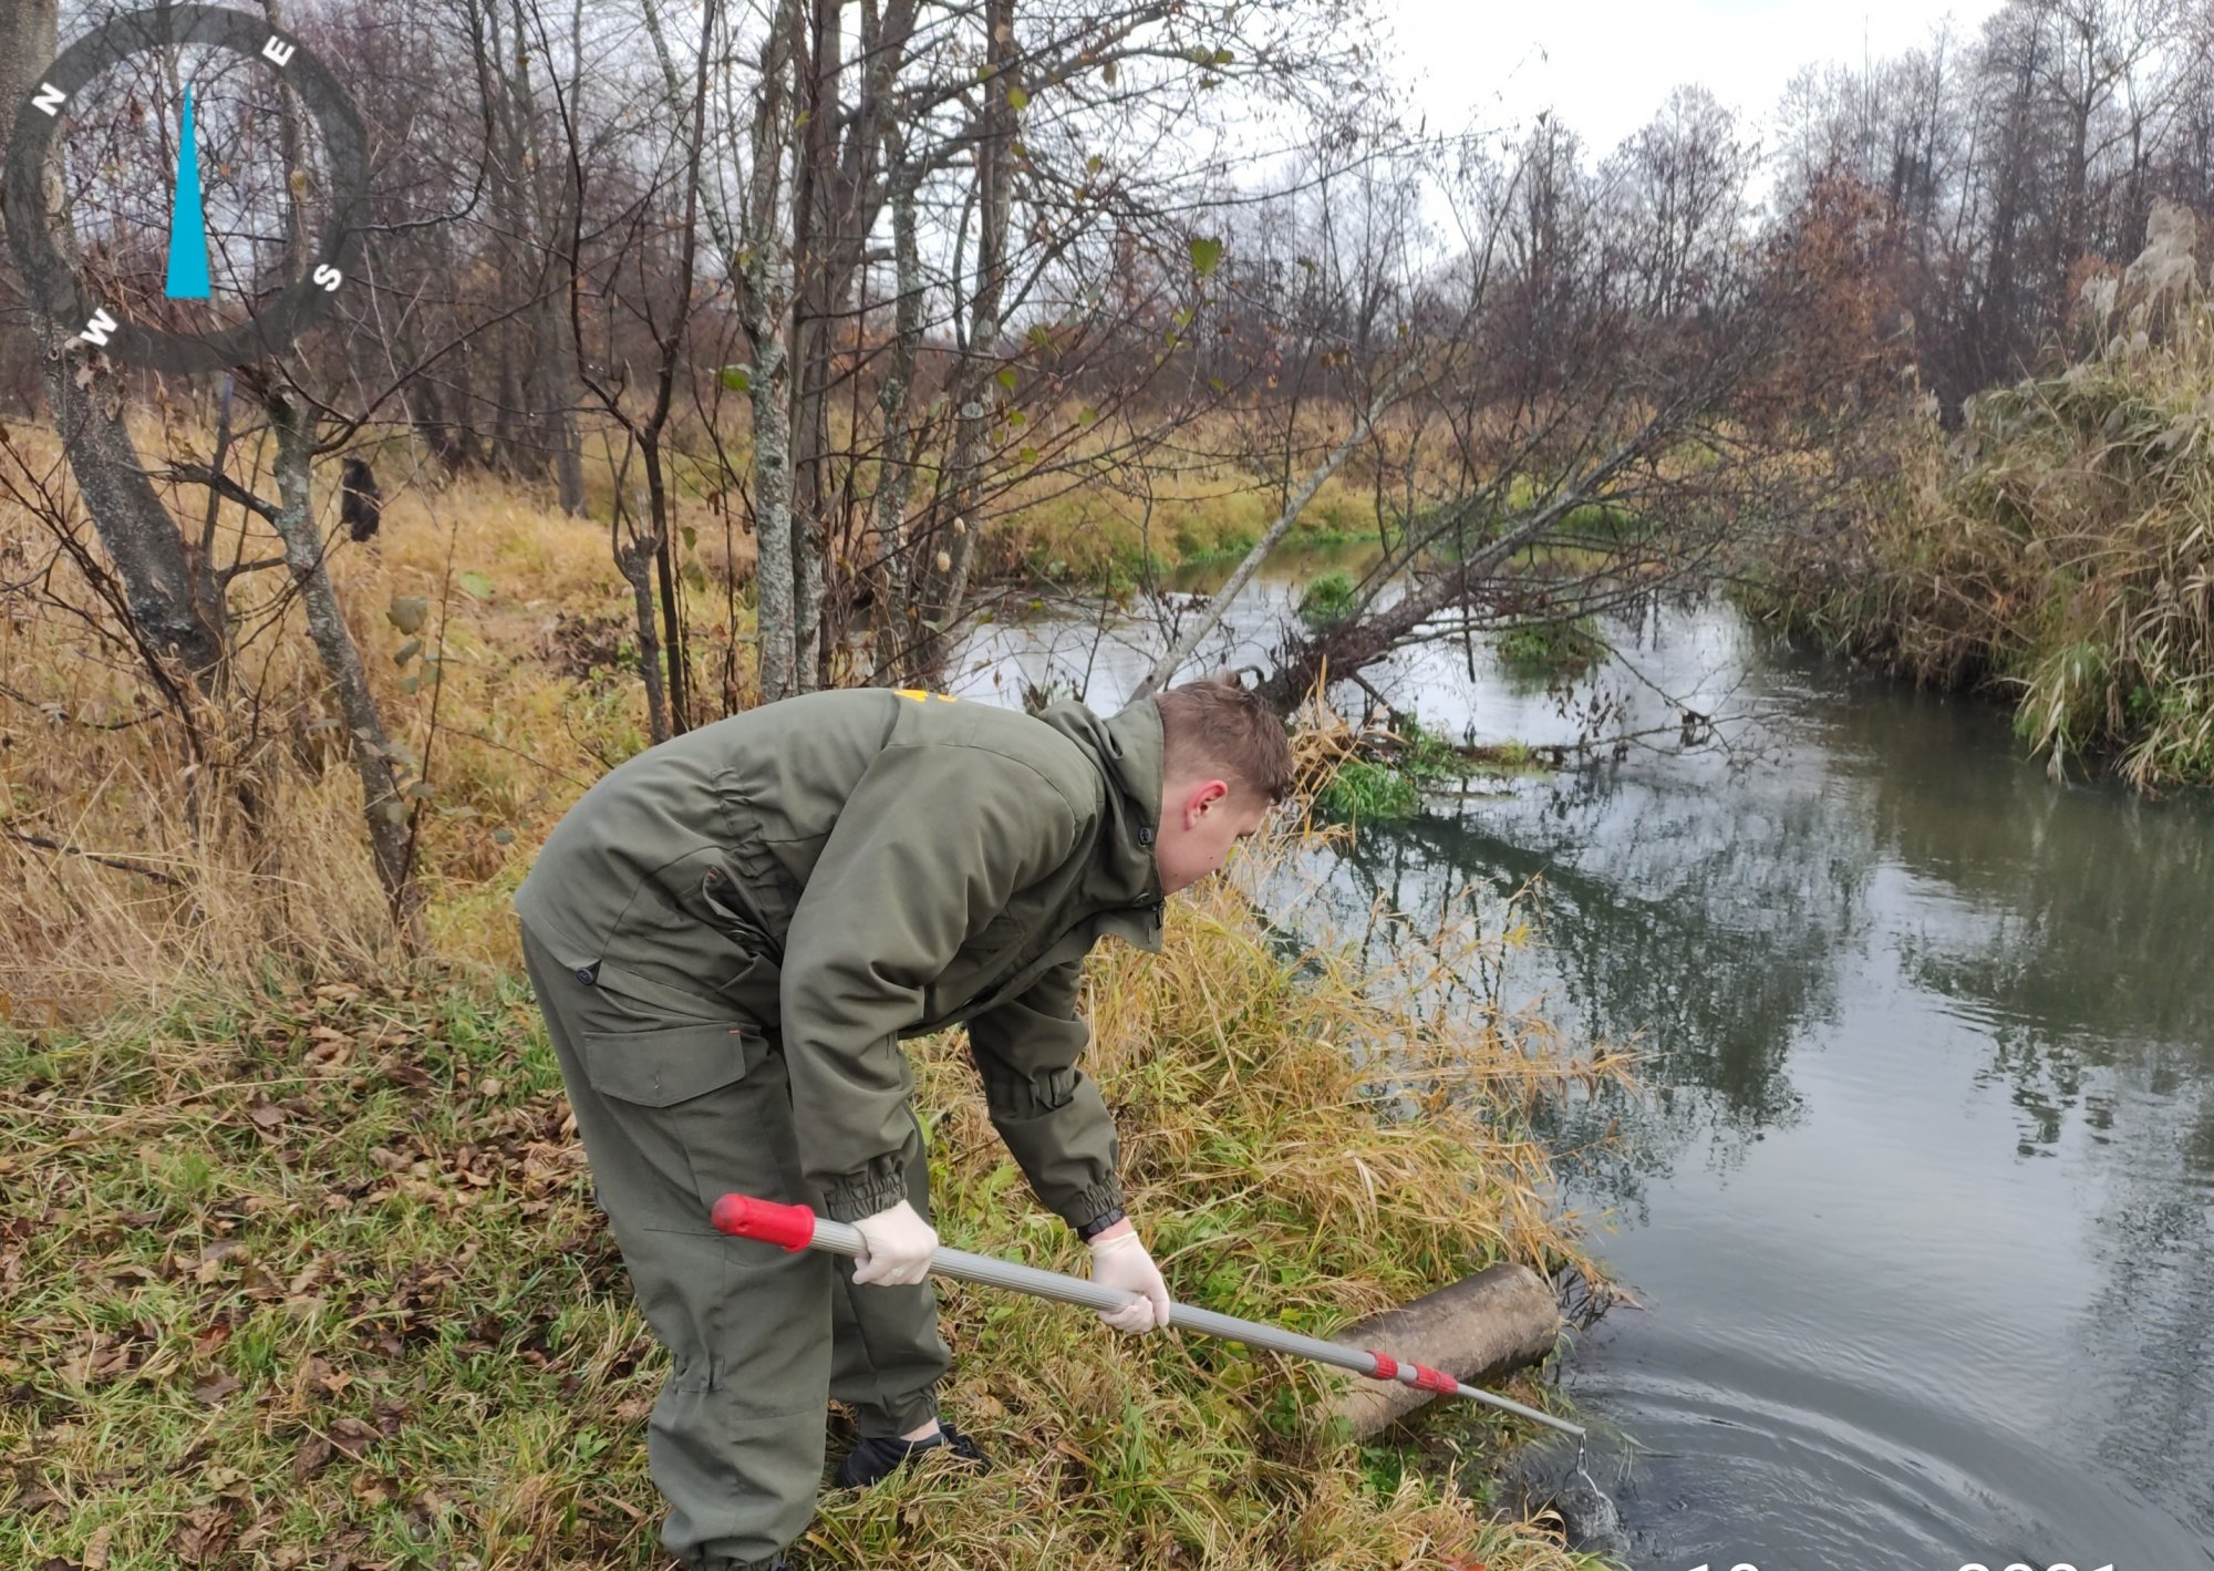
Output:
[[0,1040],[0,1562],[620,1549],[653,1350],[525,1011],[332,987]]

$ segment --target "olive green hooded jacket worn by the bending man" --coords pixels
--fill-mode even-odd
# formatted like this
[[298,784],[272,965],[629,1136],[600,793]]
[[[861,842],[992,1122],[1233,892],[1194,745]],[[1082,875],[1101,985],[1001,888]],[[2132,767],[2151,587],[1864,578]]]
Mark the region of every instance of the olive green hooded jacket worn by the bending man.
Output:
[[1103,721],[813,693],[620,763],[516,912],[580,980],[779,1031],[801,1166],[841,1221],[908,1193],[899,1038],[968,1022],[992,1124],[1083,1226],[1120,1186],[1076,987],[1100,934],[1160,947],[1158,821],[1149,699]]

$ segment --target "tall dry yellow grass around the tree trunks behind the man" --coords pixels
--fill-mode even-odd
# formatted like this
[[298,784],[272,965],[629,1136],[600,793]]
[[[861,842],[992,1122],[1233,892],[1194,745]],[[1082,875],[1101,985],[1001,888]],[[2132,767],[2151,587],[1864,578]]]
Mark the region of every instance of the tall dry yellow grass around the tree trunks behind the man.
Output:
[[[51,462],[51,443],[18,434],[18,447]],[[228,527],[241,527],[235,511]],[[259,520],[241,549],[277,553]],[[51,535],[0,504],[0,558],[42,566],[51,555]],[[629,591],[607,531],[483,478],[407,487],[387,500],[376,542],[339,535],[332,578],[390,732],[427,755],[436,794],[421,814],[418,867],[436,947],[514,963],[505,905],[527,847],[644,746],[644,704],[627,677]],[[0,622],[0,867],[20,889],[0,909],[0,1005],[35,1020],[250,976],[261,958],[319,974],[381,965],[390,923],[361,852],[361,788],[283,573],[232,586],[239,699],[206,728],[228,757],[199,768],[175,724],[148,719],[146,684],[95,633],[108,620],[84,584],[66,566],[44,584],[49,597],[18,597]],[[392,659],[407,635],[385,613],[401,597],[430,606],[436,684],[410,684],[423,666]],[[248,772],[259,834],[237,805]]]

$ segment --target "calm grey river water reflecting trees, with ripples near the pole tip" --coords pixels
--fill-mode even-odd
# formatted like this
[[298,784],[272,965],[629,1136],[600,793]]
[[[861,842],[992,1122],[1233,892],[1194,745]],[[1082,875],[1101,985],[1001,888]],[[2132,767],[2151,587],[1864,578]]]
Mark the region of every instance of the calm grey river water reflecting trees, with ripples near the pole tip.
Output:
[[[1202,653],[1258,659],[1317,566]],[[1395,657],[1375,684],[1448,735],[1572,741],[1594,701],[1643,735],[1364,828],[1302,920],[1539,876],[1503,1002],[1643,1053],[1552,1128],[1645,1305],[1563,1376],[1627,1564],[2214,1567],[2214,808],[2055,783],[1995,708],[1725,606],[1607,631],[1565,701],[1481,644]],[[952,686],[1114,710],[1158,646],[1034,615]],[[1720,724],[1685,746],[1683,706]]]

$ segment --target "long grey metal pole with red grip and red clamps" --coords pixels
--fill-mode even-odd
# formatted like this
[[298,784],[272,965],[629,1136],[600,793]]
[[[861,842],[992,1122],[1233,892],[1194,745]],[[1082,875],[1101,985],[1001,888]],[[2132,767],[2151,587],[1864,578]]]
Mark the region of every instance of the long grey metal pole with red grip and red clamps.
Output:
[[[861,1252],[861,1235],[848,1224],[817,1217],[808,1206],[782,1206],[773,1199],[753,1199],[751,1195],[724,1195],[715,1201],[715,1228],[739,1239],[782,1244],[788,1250],[810,1248],[828,1255]],[[1087,1310],[1120,1310],[1142,1297],[1136,1292],[1122,1292],[1120,1288],[1103,1288],[1100,1283],[1085,1281],[1083,1277],[1063,1277],[1054,1270],[1016,1266],[1014,1261],[992,1259],[990,1255],[970,1255],[968,1250],[952,1248],[939,1248],[930,1255],[930,1272],[934,1277],[954,1277],[956,1281],[981,1281],[987,1288],[1027,1292],[1034,1299],[1080,1303]],[[1554,1418],[1552,1414],[1541,1414],[1537,1407],[1523,1407],[1517,1401],[1494,1396],[1492,1392],[1477,1390],[1475,1385],[1463,1385],[1444,1370],[1430,1370],[1419,1363],[1401,1363],[1390,1354],[1364,1352],[1335,1341],[1322,1341],[1320,1336],[1302,1336],[1300,1332],[1289,1332],[1280,1325],[1240,1321],[1231,1314],[1191,1308],[1189,1303],[1169,1305],[1169,1325],[1184,1332],[1200,1332],[1202,1336],[1242,1341],[1249,1348],[1266,1348],[1269,1352],[1289,1352],[1300,1359],[1313,1359],[1315,1363],[1353,1370],[1353,1374],[1366,1374],[1370,1381],[1397,1381],[1399,1385],[1437,1392],[1439,1396],[1466,1396],[1472,1403],[1499,1407],[1519,1418],[1528,1418],[1530,1423],[1541,1423],[1548,1429],[1559,1429],[1561,1434],[1572,1434],[1583,1440],[1581,1425]]]

